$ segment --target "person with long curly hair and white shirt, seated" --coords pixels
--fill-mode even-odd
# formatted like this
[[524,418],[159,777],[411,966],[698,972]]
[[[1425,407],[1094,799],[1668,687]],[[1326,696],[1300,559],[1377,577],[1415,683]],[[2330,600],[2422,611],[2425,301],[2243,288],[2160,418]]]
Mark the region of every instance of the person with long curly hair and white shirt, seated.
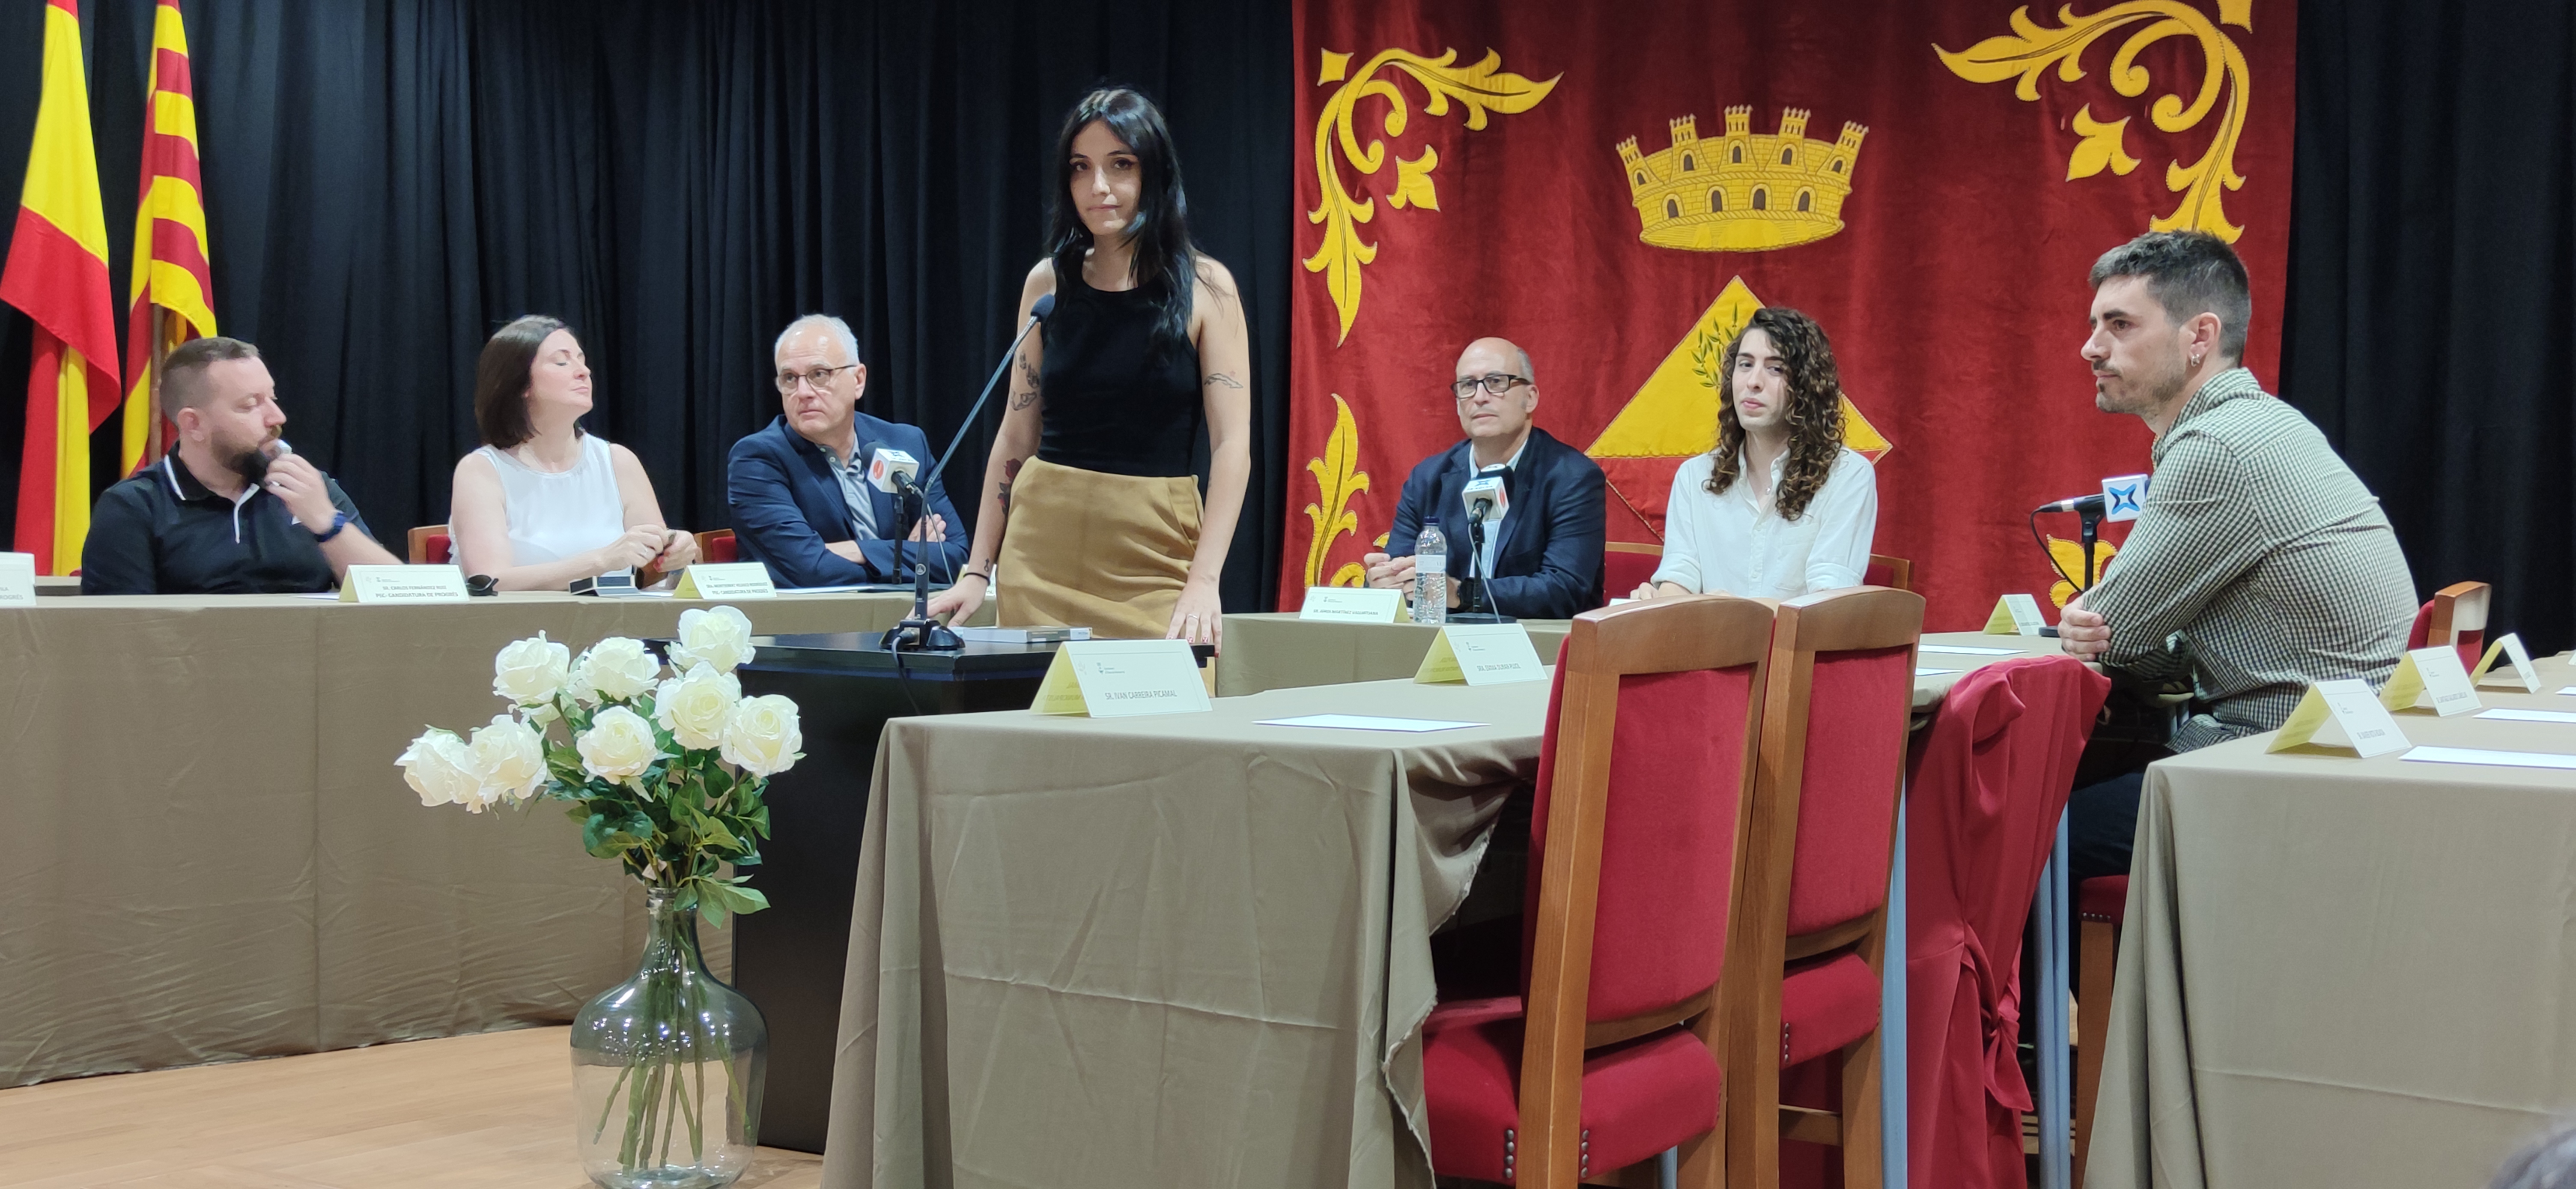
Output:
[[1664,565],[1636,598],[1795,598],[1860,585],[1878,531],[1878,475],[1842,444],[1842,377],[1824,328],[1754,310],[1726,346],[1718,449],[1682,464],[1664,508]]

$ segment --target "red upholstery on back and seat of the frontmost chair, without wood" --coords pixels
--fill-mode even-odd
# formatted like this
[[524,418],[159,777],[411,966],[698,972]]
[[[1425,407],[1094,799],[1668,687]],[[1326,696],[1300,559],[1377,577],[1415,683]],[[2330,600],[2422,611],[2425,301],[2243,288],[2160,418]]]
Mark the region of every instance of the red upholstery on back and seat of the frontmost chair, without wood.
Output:
[[[1558,658],[1564,660],[1564,658]],[[1592,923],[1584,1016],[1625,1019],[1718,983],[1734,898],[1736,802],[1754,665],[1620,678],[1610,800]],[[1530,805],[1530,869],[1520,978],[1546,872],[1566,665],[1548,691],[1548,730]],[[1734,730],[1726,730],[1726,727]],[[1422,1024],[1422,1086],[1440,1176],[1507,1181],[1520,1127],[1522,998],[1443,1003]],[[1584,1057],[1582,1127],[1589,1168],[1643,1161],[1718,1127],[1721,1073],[1685,1029],[1664,1029]]]

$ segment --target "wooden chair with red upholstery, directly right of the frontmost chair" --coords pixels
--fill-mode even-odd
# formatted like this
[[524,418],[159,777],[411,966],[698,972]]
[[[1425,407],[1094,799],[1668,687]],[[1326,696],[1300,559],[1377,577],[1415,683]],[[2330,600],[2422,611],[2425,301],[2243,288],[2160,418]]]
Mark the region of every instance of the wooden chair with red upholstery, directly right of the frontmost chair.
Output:
[[[1924,601],[1857,585],[1780,604],[1744,898],[1726,957],[1726,1184],[1780,1184],[1780,1140],[1842,1145],[1878,1186],[1878,988],[1896,794]],[[1839,1112],[1780,1104],[1780,1070],[1842,1052]]]

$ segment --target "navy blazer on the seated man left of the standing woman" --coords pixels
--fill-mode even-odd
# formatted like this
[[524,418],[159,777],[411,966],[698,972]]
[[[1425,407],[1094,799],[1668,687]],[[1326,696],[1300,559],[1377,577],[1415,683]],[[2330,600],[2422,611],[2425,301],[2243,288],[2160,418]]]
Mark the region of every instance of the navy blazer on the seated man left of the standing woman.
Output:
[[[930,480],[925,506],[933,516],[948,521],[948,539],[927,547],[922,542],[902,542],[902,562],[896,562],[896,542],[891,539],[858,542],[858,552],[868,557],[868,565],[827,549],[832,542],[855,536],[850,529],[850,500],[840,495],[840,480],[832,477],[832,459],[824,457],[822,446],[806,441],[781,415],[760,433],[737,441],[734,451],[724,459],[726,503],[734,508],[734,547],[742,552],[742,560],[768,565],[770,580],[781,588],[909,583],[912,565],[922,562],[927,549],[930,580],[938,585],[953,583],[966,565],[969,534],[966,521],[958,521],[958,511],[948,506],[940,480],[927,475],[927,467],[935,462],[930,438],[912,426],[896,426],[866,413],[858,413],[855,428],[860,462],[866,462],[868,446],[891,446],[922,462]],[[876,498],[878,531],[912,531],[909,524],[894,524],[894,495],[876,487],[868,487],[868,495]]]

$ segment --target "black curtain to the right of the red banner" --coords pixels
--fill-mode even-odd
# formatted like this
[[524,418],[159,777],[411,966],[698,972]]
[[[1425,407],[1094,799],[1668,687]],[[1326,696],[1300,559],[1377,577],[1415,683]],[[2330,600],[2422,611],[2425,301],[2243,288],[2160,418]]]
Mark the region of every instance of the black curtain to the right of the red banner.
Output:
[[2282,395],[2380,495],[2427,593],[2576,642],[2576,8],[2298,10]]

